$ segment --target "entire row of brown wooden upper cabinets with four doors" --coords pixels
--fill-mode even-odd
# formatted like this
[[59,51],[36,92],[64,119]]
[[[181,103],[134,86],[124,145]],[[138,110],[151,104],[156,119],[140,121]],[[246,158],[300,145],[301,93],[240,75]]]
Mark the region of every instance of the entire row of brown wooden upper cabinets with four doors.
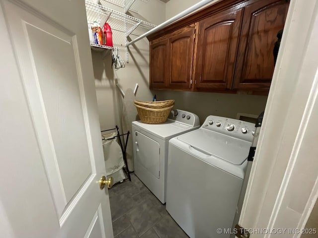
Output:
[[288,7],[222,0],[148,36],[150,88],[266,95]]

